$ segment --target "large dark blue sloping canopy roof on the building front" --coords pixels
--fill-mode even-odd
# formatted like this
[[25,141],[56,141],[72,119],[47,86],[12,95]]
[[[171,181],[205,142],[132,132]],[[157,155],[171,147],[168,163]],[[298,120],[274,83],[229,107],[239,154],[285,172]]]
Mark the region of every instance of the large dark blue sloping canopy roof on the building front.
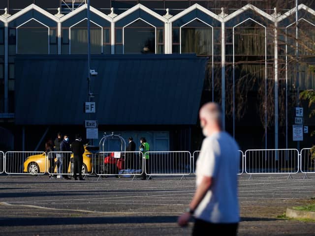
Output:
[[87,56],[17,56],[16,124],[195,124],[207,58],[195,55],[93,56],[87,101]]

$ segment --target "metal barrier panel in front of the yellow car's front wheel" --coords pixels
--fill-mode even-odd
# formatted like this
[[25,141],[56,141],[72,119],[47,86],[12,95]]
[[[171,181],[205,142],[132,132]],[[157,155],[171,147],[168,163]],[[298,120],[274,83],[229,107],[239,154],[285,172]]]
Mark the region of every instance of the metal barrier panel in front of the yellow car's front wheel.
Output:
[[8,175],[44,175],[46,153],[42,151],[7,151],[4,172]]

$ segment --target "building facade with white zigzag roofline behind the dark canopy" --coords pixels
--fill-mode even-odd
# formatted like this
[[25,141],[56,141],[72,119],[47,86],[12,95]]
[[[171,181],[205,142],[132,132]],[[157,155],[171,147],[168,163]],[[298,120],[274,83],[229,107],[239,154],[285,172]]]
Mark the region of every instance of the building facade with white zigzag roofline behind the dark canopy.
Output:
[[[200,104],[221,104],[224,129],[241,148],[296,148],[295,107],[304,107],[303,125],[315,125],[298,99],[315,88],[315,11],[299,3],[91,0],[91,53],[206,56]],[[0,8],[0,118],[12,130],[15,58],[87,54],[88,14],[85,0],[2,0]],[[188,130],[186,147],[195,149],[198,124]],[[300,148],[311,144],[304,134]]]

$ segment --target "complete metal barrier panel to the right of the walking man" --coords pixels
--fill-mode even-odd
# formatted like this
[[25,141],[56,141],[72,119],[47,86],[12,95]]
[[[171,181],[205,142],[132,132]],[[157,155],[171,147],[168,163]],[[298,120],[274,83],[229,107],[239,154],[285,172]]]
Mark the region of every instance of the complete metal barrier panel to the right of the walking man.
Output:
[[297,149],[250,149],[245,152],[247,174],[296,174],[299,172]]

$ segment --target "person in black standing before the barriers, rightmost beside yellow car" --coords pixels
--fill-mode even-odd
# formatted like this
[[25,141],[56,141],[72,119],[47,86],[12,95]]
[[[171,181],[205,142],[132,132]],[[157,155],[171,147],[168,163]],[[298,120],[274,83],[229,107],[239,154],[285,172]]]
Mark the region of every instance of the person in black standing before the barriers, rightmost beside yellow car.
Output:
[[74,177],[74,180],[78,180],[77,174],[79,174],[80,180],[84,180],[84,178],[82,178],[84,146],[82,143],[81,135],[79,135],[79,134],[75,135],[75,140],[71,144],[71,151],[73,152],[73,177]]

